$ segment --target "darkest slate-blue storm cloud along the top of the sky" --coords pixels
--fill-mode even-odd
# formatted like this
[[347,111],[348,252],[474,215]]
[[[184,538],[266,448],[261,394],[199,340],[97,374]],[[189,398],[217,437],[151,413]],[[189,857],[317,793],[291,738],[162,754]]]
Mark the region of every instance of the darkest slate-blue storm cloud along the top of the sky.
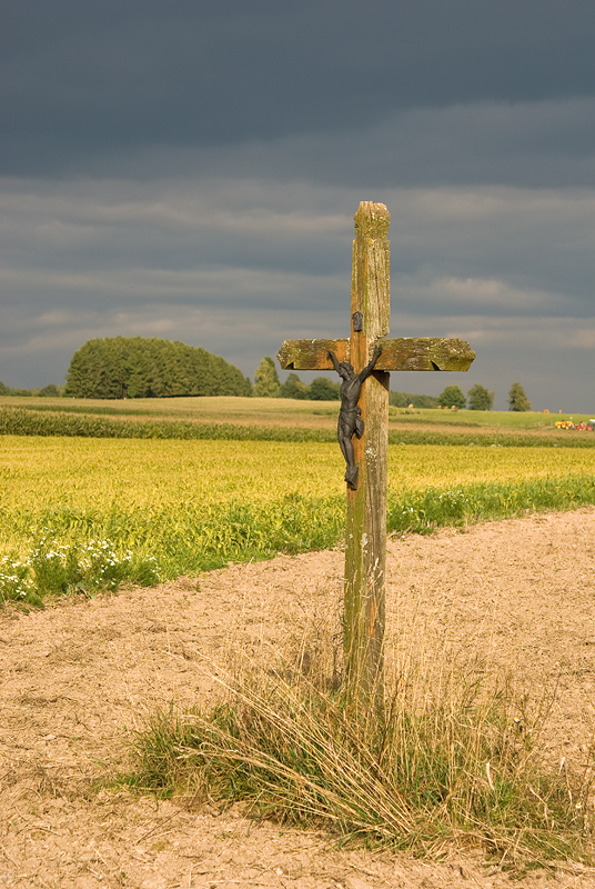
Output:
[[7,0],[2,169],[592,94],[591,0]]

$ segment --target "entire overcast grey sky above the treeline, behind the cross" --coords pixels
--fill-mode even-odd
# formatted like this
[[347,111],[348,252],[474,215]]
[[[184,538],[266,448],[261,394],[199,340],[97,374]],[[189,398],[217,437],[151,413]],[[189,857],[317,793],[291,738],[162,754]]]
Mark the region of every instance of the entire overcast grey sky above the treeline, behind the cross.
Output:
[[[2,0],[0,380],[94,337],[253,379],[349,336],[391,212],[391,334],[461,337],[506,409],[595,411],[593,0]],[[280,374],[282,378],[285,374]],[[307,380],[309,374],[302,378]]]

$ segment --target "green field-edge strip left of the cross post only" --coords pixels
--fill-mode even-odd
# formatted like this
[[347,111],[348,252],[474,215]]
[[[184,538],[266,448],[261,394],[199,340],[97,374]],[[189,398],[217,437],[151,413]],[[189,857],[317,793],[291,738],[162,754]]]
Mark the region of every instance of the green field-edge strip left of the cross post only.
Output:
[[[85,547],[99,547],[100,553],[107,547],[119,566],[127,552],[134,553],[121,580],[144,582],[151,573],[142,568],[145,565],[153,565],[153,575],[168,580],[221,568],[230,560],[270,559],[278,552],[293,555],[333,547],[341,536],[344,508],[337,496],[288,495],[264,503],[178,501],[143,510],[120,505],[105,510],[56,507],[40,512],[3,512],[0,508],[0,520],[9,539],[51,541],[43,543],[42,558],[34,558],[36,576],[43,579],[51,563],[56,568],[51,571],[57,578],[54,586],[74,587],[79,568],[71,571],[69,559],[79,566],[84,556],[97,568],[93,573],[103,580],[111,577],[111,562],[100,571],[98,559],[93,561],[90,551],[84,555]],[[38,543],[28,549],[28,559],[33,558],[36,548]]]

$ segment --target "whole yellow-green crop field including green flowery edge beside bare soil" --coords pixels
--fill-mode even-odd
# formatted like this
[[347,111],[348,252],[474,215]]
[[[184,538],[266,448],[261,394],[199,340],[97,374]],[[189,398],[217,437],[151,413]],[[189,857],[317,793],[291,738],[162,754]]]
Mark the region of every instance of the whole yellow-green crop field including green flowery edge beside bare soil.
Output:
[[[47,586],[60,591],[332,547],[343,528],[343,471],[335,442],[2,436],[3,576],[14,578],[19,560],[30,576],[22,566],[33,551],[40,576],[43,559],[53,560]],[[592,502],[589,448],[390,447],[392,531]],[[81,579],[81,547],[107,573]],[[9,587],[3,598],[27,595],[16,580]]]

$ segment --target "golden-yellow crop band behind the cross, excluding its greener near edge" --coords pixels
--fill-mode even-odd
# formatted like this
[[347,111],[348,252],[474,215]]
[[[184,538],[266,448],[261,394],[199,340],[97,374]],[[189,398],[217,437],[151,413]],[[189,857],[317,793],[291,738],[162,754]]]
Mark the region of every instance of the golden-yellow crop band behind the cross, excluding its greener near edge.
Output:
[[[591,475],[589,448],[391,446],[389,488]],[[343,492],[334,443],[27,438],[0,442],[0,508],[154,508]]]

